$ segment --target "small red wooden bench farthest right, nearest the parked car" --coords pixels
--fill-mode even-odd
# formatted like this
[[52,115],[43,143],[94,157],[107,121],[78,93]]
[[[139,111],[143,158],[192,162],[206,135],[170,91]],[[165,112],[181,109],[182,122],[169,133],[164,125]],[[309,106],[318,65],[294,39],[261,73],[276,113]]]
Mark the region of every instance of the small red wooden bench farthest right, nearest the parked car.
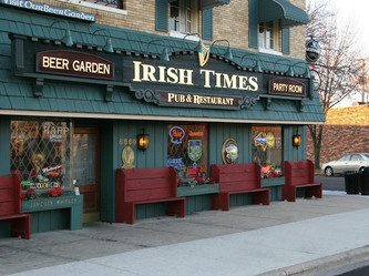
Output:
[[310,160],[307,161],[285,161],[286,184],[283,187],[283,200],[296,202],[298,188],[305,188],[305,198],[312,196],[321,198],[322,184],[315,183],[315,168]]

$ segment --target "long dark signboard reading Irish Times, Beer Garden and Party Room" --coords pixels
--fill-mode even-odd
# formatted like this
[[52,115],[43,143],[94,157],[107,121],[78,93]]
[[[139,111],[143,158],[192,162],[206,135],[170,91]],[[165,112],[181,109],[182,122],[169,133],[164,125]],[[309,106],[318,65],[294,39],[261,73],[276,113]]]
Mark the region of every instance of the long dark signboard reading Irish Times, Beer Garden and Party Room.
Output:
[[16,75],[103,84],[110,91],[121,86],[137,100],[161,106],[239,110],[255,105],[260,96],[303,99],[311,89],[310,79],[255,72],[221,57],[199,67],[197,54],[188,52],[173,54],[167,62],[91,47],[66,48],[18,34],[10,38]]

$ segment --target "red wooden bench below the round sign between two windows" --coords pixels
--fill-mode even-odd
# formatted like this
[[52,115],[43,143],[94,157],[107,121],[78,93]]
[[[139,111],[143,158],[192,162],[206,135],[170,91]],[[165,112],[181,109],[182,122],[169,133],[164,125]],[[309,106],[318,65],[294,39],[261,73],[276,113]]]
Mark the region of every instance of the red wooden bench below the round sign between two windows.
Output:
[[219,183],[212,208],[229,211],[230,194],[253,194],[253,204],[269,205],[269,190],[262,187],[262,170],[256,163],[212,165],[212,177]]

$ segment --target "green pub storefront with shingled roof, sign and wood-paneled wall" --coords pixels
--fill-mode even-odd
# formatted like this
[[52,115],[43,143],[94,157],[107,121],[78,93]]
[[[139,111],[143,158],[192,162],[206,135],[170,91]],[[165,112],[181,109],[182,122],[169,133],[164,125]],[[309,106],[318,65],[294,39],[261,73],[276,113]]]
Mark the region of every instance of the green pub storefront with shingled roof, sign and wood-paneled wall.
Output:
[[[242,49],[232,49],[233,57],[225,58],[228,49],[214,45],[201,67],[199,59],[206,54],[199,58],[197,42],[73,19],[54,23],[58,20],[50,14],[1,8],[0,175],[28,170],[21,173],[23,188],[37,187],[40,193],[53,187],[51,183],[69,193],[80,187],[84,213],[94,214],[85,221],[115,222],[115,175],[124,167],[126,147],[132,150],[131,168],[173,165],[178,171],[184,167],[183,177],[189,178],[197,173],[211,176],[211,165],[224,163],[224,144],[232,139],[237,143],[237,163],[263,157],[265,172],[278,167],[281,176],[265,175],[263,186],[270,188],[271,201],[279,201],[283,161],[305,160],[306,125],[325,121],[303,60]],[[62,39],[68,34],[64,22],[69,22],[71,43]],[[113,49],[105,48],[104,30]],[[161,55],[165,50],[167,61]],[[32,137],[30,125],[47,142],[38,144],[25,165],[14,160],[30,149],[25,146]],[[277,134],[269,135],[270,129]],[[145,151],[137,149],[143,133],[150,135]],[[185,133],[193,135],[184,140],[186,144],[181,142]],[[93,146],[90,140],[81,142],[90,134]],[[301,137],[299,146],[293,145],[294,135]],[[201,152],[199,157],[194,157],[191,146]],[[275,147],[278,164],[270,161]],[[48,153],[42,153],[44,149]],[[182,152],[176,155],[176,151]],[[37,160],[39,153],[58,159],[48,164],[47,155]],[[86,155],[79,167],[81,154]],[[30,166],[38,162],[32,171]],[[41,177],[41,172],[49,174]],[[90,176],[98,184],[93,193],[84,185],[91,184]],[[187,213],[208,209],[206,192],[186,198]],[[233,204],[247,201],[247,196],[235,197]],[[163,209],[161,204],[142,206],[137,216],[161,215]],[[70,219],[65,212],[52,216]]]

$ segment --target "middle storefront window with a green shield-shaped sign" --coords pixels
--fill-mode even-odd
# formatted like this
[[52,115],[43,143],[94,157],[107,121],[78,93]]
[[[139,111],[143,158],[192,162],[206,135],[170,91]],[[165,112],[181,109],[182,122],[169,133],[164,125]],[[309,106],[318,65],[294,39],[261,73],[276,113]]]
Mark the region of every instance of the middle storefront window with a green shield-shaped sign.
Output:
[[206,177],[207,124],[170,124],[167,126],[167,166],[177,177]]

